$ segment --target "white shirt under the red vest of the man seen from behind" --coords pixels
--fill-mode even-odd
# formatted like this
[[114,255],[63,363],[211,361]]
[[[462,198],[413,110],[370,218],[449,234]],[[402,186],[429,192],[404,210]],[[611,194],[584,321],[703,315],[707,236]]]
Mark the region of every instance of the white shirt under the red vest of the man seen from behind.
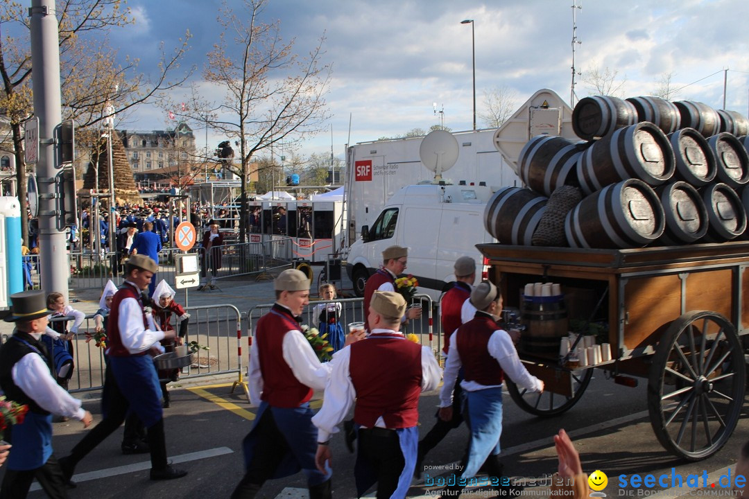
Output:
[[[375,329],[375,333],[388,333],[403,336],[399,332],[390,329]],[[330,440],[330,435],[339,432],[336,427],[351,410],[357,391],[354,390],[354,382],[351,381],[349,364],[351,361],[351,346],[340,349],[333,355],[333,373],[330,382],[325,387],[323,406],[312,417],[312,423],[318,427],[318,442]],[[442,370],[437,364],[437,359],[428,346],[422,346],[422,391],[431,391],[437,388],[442,377]],[[375,426],[386,428],[382,416],[377,418]]]

